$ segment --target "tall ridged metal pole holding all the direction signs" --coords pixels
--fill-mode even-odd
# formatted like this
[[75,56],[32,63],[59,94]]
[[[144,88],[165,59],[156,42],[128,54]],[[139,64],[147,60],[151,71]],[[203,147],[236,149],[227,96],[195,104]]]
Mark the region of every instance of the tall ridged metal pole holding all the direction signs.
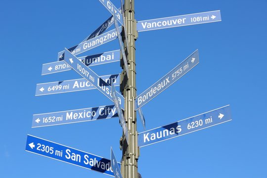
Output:
[[135,87],[135,40],[137,39],[136,31],[136,20],[134,19],[134,0],[125,0],[125,18],[126,18],[126,31],[129,41],[129,51],[127,51],[127,60],[129,66],[129,76],[128,80],[125,71],[125,66],[123,62],[122,82],[121,82],[121,91],[125,97],[125,120],[129,130],[129,145],[123,136],[121,145],[123,150],[123,159],[121,172],[123,178],[138,178],[137,173],[137,161],[139,157],[139,149],[137,146],[137,131],[136,131],[136,114],[134,111],[134,103],[136,97],[136,87]]

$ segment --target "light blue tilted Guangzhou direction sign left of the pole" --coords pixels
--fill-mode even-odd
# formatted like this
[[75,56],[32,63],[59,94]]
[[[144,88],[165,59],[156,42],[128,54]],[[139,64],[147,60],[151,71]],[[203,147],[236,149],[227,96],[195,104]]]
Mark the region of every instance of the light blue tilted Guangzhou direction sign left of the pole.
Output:
[[[121,31],[121,27],[120,27],[120,31]],[[71,48],[69,48],[68,50],[74,54],[74,55],[78,55],[81,54],[85,51],[88,51],[89,49],[92,49],[94,47],[97,47],[99,45],[103,45],[105,43],[111,42],[112,40],[115,40],[117,38],[117,33],[116,30],[113,29],[111,31],[108,31],[102,35],[99,35],[95,38],[92,38],[88,41],[82,42],[79,45],[75,45]],[[58,60],[64,60],[64,51],[61,51],[58,53]]]

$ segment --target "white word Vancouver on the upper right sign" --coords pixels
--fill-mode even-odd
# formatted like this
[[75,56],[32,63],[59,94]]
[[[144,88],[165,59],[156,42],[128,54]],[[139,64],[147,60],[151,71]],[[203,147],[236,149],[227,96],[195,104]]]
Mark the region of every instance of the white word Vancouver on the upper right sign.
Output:
[[155,28],[155,27],[162,27],[162,26],[172,26],[172,25],[176,25],[176,24],[183,24],[185,23],[186,18],[179,18],[179,19],[175,19],[175,20],[164,20],[164,21],[159,21],[159,22],[152,22],[152,23],[148,23],[148,22],[141,22],[142,27],[144,29],[146,28]]

